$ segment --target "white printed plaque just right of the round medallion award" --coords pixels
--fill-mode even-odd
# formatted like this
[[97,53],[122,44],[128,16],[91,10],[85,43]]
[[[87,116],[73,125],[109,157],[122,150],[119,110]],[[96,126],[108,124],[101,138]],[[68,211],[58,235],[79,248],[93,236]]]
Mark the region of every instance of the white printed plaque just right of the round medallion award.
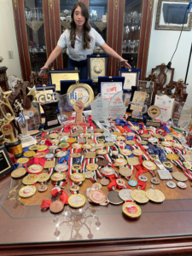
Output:
[[154,105],[160,108],[160,119],[163,122],[167,122],[172,117],[172,106],[175,99],[170,98],[169,96],[155,96]]

